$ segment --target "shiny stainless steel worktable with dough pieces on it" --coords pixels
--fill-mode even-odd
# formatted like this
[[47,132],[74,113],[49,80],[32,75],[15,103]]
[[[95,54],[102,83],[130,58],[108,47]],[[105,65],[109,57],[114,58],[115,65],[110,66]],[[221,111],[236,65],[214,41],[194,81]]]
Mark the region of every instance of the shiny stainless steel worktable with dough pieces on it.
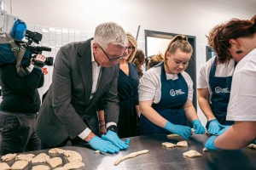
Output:
[[[195,170],[216,170],[216,169],[256,169],[256,150],[244,148],[242,150],[217,150],[202,152],[204,144],[208,139],[207,135],[192,135],[187,141],[189,148],[166,148],[161,146],[163,142],[172,142],[176,144],[182,141],[181,137],[172,137],[167,139],[166,134],[153,134],[147,136],[138,136],[131,138],[128,150],[121,150],[119,154],[95,154],[94,150],[84,147],[66,146],[62,149],[76,150],[83,156],[85,167],[82,169],[132,169],[132,170],[172,170],[172,169],[195,169]],[[113,163],[118,158],[126,156],[131,152],[139,150],[149,150],[148,154],[137,156],[125,161],[121,161],[118,166]],[[183,152],[188,150],[197,150],[202,154],[201,157],[188,158],[183,156]],[[48,150],[32,151],[35,155],[38,153],[47,153]],[[59,155],[49,155],[59,156]],[[67,160],[62,156],[63,164]],[[31,169],[31,165],[26,167]]]

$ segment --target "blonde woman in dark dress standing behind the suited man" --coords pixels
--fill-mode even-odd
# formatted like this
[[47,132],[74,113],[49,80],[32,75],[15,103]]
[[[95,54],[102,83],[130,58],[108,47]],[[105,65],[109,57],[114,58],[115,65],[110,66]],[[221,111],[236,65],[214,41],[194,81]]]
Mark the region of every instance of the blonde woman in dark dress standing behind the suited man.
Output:
[[123,58],[119,59],[119,138],[137,136],[137,117],[140,113],[137,67],[131,62],[137,51],[137,42],[130,32],[127,32],[126,36],[128,44]]

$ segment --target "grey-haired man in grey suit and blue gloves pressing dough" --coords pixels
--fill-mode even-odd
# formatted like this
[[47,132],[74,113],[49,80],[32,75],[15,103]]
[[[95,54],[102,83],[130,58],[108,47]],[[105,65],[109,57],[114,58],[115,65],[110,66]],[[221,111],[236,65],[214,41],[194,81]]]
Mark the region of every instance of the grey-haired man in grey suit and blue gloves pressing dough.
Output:
[[[127,149],[117,135],[119,59],[128,40],[116,23],[96,27],[94,38],[60,48],[55,57],[52,83],[38,112],[36,133],[42,149],[88,145],[103,152]],[[103,99],[107,134],[99,138],[96,102]],[[110,141],[110,142],[109,142]],[[88,142],[88,143],[87,143]]]

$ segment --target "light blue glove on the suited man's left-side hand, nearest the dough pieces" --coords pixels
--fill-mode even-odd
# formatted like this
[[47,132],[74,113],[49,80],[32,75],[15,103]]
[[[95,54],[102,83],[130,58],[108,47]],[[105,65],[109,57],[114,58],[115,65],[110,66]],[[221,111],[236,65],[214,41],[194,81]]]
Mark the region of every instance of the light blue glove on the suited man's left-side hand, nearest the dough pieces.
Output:
[[111,142],[100,139],[99,137],[95,136],[88,142],[90,146],[95,150],[100,150],[102,152],[109,152],[109,153],[118,153],[119,148],[113,145]]

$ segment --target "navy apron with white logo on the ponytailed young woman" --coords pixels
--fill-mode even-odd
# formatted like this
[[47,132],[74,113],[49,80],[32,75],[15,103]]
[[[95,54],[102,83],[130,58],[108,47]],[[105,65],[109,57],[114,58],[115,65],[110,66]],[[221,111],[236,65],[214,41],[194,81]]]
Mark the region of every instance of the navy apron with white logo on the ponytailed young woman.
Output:
[[[172,122],[173,124],[186,126],[183,105],[185,105],[188,99],[188,84],[181,73],[177,74],[178,78],[174,81],[172,79],[166,80],[165,66],[163,63],[161,65],[161,99],[158,104],[153,104],[152,107],[167,121]],[[165,128],[159,127],[148,121],[142,114],[140,117],[139,133],[140,135],[145,135],[170,132]]]

